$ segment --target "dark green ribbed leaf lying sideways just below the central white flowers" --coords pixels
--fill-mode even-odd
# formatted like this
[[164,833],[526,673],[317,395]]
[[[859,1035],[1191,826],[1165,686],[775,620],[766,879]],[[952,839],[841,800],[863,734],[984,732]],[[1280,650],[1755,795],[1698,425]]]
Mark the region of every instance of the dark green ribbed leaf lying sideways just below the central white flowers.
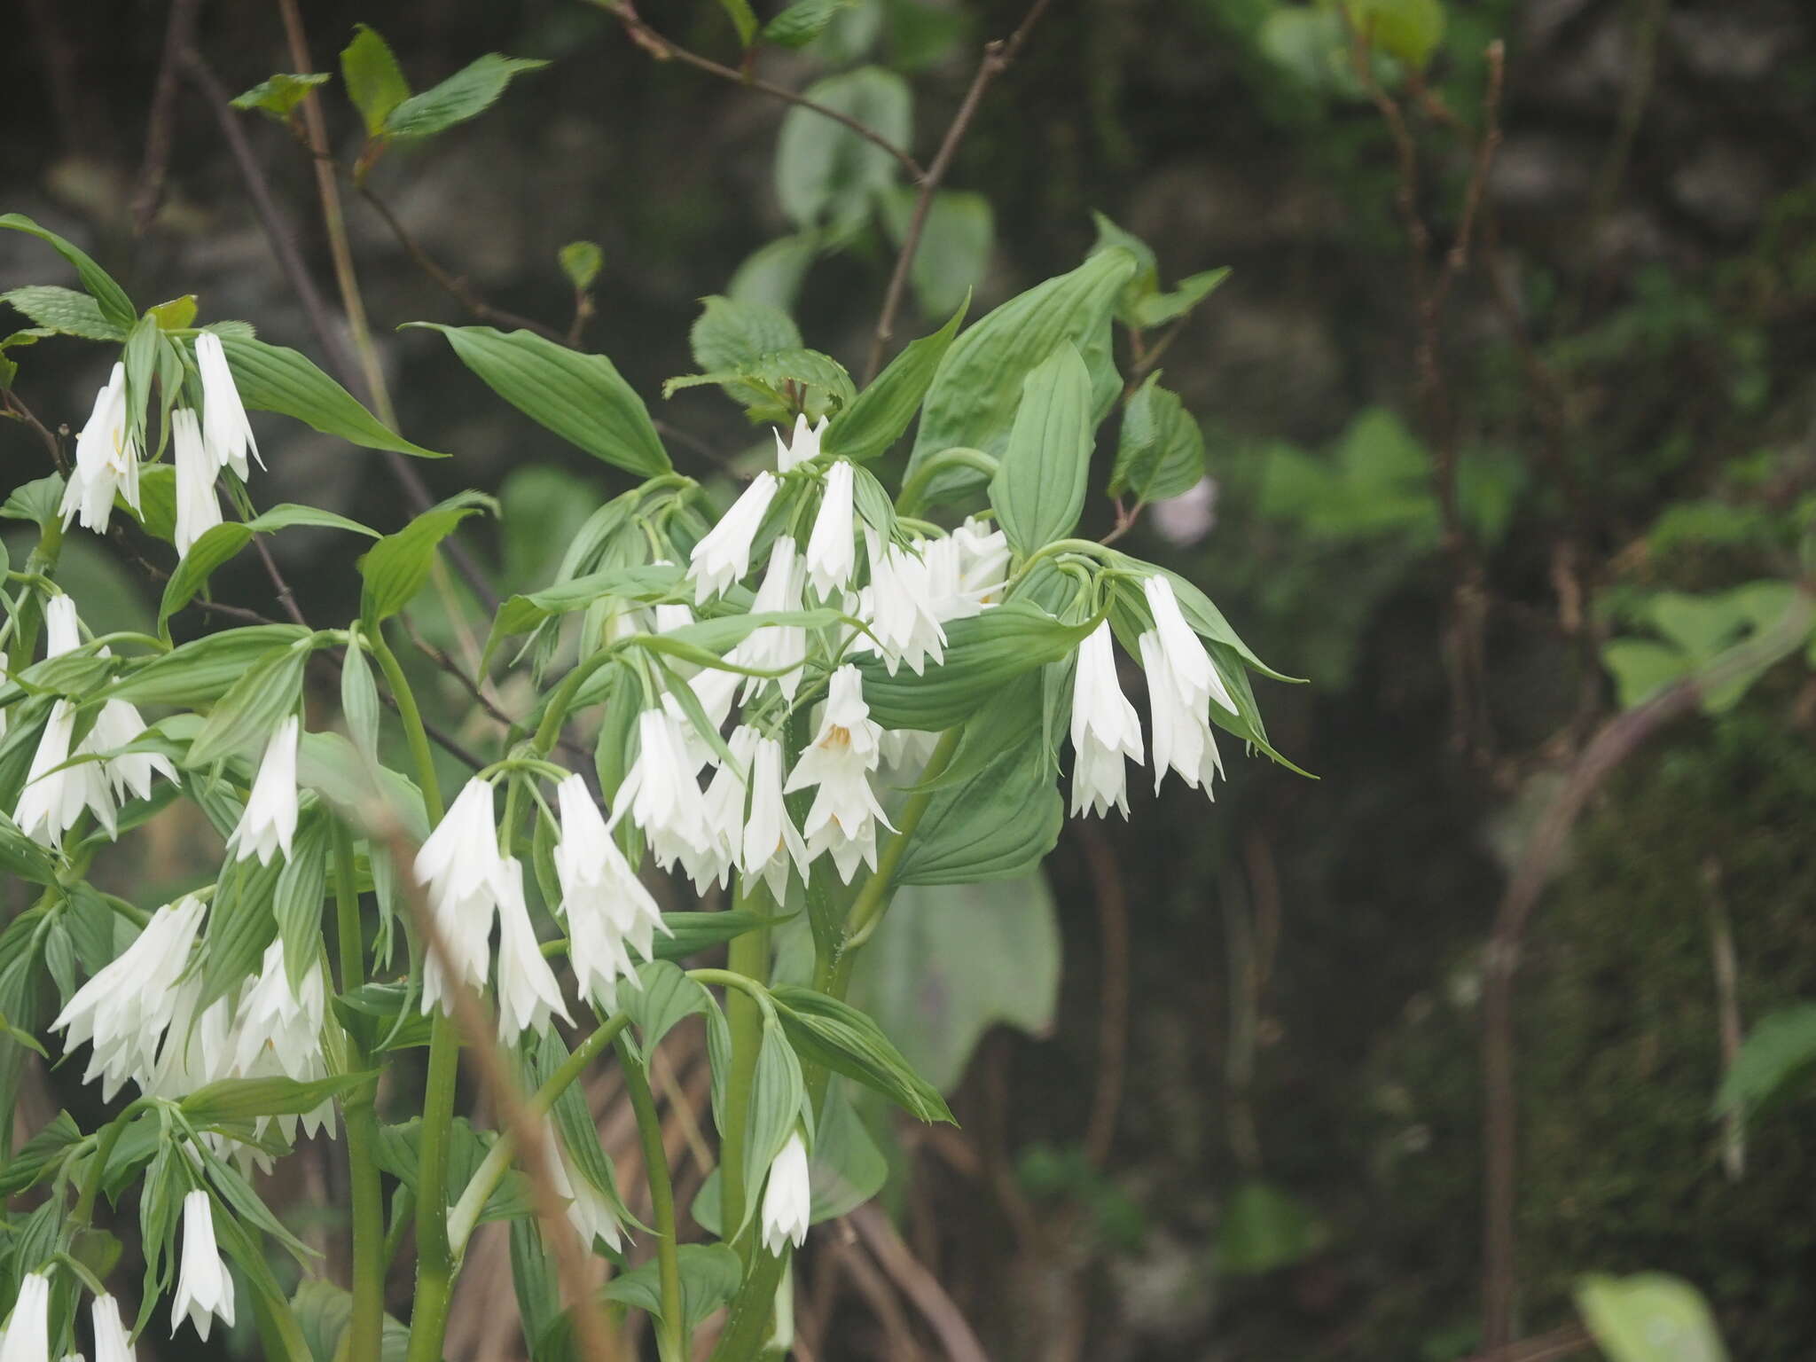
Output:
[[1024,672],[1071,654],[1097,621],[1066,625],[1026,601],[1012,601],[946,625],[946,661],[924,676],[890,676],[881,657],[861,656],[864,703],[884,728],[941,732],[964,723]]

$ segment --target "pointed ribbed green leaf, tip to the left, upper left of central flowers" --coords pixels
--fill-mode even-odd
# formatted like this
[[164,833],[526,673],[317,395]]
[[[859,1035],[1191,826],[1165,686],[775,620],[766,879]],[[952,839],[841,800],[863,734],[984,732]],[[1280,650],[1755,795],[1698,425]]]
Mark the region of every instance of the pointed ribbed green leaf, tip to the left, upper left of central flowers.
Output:
[[579,354],[528,331],[412,325],[445,334],[498,396],[594,458],[639,478],[672,470],[643,398],[603,354]]

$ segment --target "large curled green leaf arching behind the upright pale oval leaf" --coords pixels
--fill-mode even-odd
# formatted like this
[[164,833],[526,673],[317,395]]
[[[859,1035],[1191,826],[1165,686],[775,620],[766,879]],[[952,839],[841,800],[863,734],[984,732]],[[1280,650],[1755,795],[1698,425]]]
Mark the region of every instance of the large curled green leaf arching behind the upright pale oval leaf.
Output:
[[[979,449],[1002,458],[1022,400],[1022,381],[1061,341],[1071,341],[1091,376],[1090,423],[1095,429],[1122,390],[1110,356],[1110,311],[1135,271],[1128,251],[1100,251],[1070,274],[1039,283],[970,327],[946,350],[921,409],[912,478],[946,449]],[[981,487],[984,476],[948,469],[933,496]]]

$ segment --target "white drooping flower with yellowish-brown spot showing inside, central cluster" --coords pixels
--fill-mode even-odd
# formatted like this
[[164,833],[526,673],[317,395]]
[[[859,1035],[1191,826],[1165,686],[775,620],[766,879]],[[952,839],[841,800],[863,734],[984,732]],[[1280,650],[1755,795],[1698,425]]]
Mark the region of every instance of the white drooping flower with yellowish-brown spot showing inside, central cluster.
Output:
[[852,665],[832,674],[826,706],[814,743],[801,754],[785,792],[819,786],[801,834],[808,855],[832,852],[839,877],[850,884],[859,861],[877,868],[877,823],[884,817],[870,788],[870,772],[883,759],[883,728],[864,705],[864,683]]

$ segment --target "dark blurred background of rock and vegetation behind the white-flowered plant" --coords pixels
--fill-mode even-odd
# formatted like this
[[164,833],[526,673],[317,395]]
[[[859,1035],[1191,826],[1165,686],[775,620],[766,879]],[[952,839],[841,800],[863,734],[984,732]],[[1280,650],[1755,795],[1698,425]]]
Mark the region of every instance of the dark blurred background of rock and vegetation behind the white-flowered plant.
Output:
[[[924,162],[981,42],[1021,9],[866,4],[886,13],[872,58],[910,71]],[[656,9],[645,16],[679,42],[732,54],[716,7]],[[1473,1353],[1482,948],[1558,772],[1614,712],[1600,645],[1634,632],[1647,592],[1796,572],[1816,472],[1816,13],[1451,7],[1431,85],[1462,129],[1409,113],[1431,262],[1460,229],[1491,38],[1507,44],[1507,76],[1475,251],[1440,323],[1446,423],[1418,389],[1393,142],[1340,62],[1282,60],[1282,9],[1057,0],[948,182],[995,211],[975,312],[1073,267],[1091,209],[1150,242],[1168,281],[1235,267],[1164,363],[1204,419],[1215,523],[1168,539],[1150,516],[1128,545],[1202,583],[1264,657],[1311,679],[1262,703],[1275,745],[1320,777],[1226,752],[1215,804],[1177,786],[1155,799],[1137,779],[1126,826],[1061,839],[1051,1026],[984,1039],[955,1100],[962,1133],[908,1140],[895,1199],[910,1246],[999,1358]],[[187,85],[163,205],[133,231],[165,15],[143,0],[0,15],[0,207],[84,242],[142,300],[198,292],[203,318],[251,318],[320,360]],[[790,231],[772,189],[783,107],[654,62],[577,0],[321,0],[307,5],[314,69],[334,69],[360,20],[418,85],[485,51],[554,58],[483,120],[389,156],[372,183],[478,292],[561,329],[572,294],[556,251],[599,242],[588,345],[657,416],[719,456],[746,450],[752,432],[710,389],[656,394],[694,367],[696,298]],[[234,93],[292,69],[271,5],[203,5],[200,47]],[[801,87],[848,64],[808,51],[761,67]],[[356,122],[332,91],[329,118],[350,158]],[[245,127],[332,298],[307,156],[276,125]],[[614,474],[508,418],[430,334],[394,332],[470,318],[372,211],[350,202],[349,218],[401,427],[456,452],[423,474],[438,494],[507,485],[523,519],[469,543],[499,581],[538,585],[548,541]],[[808,345],[861,367],[892,258],[864,232],[814,267],[797,307]],[[0,285],[54,269],[24,238],[0,242]],[[899,336],[933,321],[910,307]],[[47,343],[20,390],[74,427],[102,370],[96,347]],[[262,501],[383,528],[405,518],[376,458],[260,430]],[[1446,445],[1480,568],[1464,607],[1480,619],[1478,670],[1456,661],[1467,568],[1433,496]],[[0,427],[7,485],[42,459]],[[1097,501],[1090,532],[1111,523]],[[352,612],[343,541],[303,530],[276,550],[311,617]],[[85,616],[142,612],[153,594],[107,552],[71,572],[93,583],[76,587]],[[274,610],[256,563],[236,572],[216,579],[223,597]],[[439,708],[483,732],[456,688]],[[1578,1273],[1656,1268],[1709,1295],[1736,1358],[1816,1349],[1811,1108],[1762,1115],[1738,1180],[1732,1135],[1709,1117],[1723,1064],[1712,943],[1731,933],[1743,1022],[1816,984],[1812,716],[1792,661],[1736,710],[1667,728],[1591,804],[1538,906],[1515,1013],[1522,1335],[1571,1324]],[[156,855],[153,873],[174,873],[183,848]],[[990,908],[988,893],[973,903]],[[997,968],[1026,962],[1010,948]],[[47,1082],[38,1100],[84,1100],[74,1071]],[[314,1199],[332,1204],[332,1170],[321,1177]],[[300,1215],[309,1199],[298,1191]],[[848,1262],[861,1249],[844,1239],[823,1233],[804,1269],[819,1355],[939,1357],[893,1278]],[[508,1289],[494,1300],[510,1309]],[[516,1347],[508,1329],[474,1327],[450,1357]],[[1567,1355],[1567,1335],[1558,1347],[1533,1357]]]

